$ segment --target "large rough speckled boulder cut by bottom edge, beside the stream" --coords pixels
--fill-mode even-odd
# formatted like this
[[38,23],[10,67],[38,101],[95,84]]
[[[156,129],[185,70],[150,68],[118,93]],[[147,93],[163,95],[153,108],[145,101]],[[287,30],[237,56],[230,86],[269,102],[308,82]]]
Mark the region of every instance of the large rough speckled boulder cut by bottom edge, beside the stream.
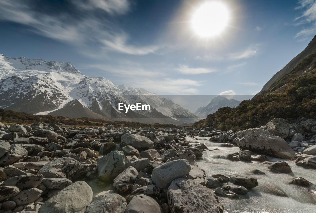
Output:
[[176,179],[171,183],[168,204],[173,213],[224,213],[213,190],[187,179]]

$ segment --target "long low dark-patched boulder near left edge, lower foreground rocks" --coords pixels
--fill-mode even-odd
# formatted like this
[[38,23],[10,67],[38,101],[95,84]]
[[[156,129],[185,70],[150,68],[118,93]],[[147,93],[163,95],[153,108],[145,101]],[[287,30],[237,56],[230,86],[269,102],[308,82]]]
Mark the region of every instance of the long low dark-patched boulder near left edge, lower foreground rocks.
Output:
[[3,182],[4,186],[14,186],[21,190],[35,188],[40,185],[43,180],[43,175],[40,174],[30,174],[21,175],[16,177],[11,177]]

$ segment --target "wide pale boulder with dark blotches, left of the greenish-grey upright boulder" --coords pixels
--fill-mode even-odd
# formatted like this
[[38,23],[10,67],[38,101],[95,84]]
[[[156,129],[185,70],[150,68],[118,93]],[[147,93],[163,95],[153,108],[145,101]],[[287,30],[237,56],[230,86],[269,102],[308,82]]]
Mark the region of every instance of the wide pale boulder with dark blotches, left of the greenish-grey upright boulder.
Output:
[[45,164],[37,173],[45,178],[71,178],[80,169],[80,162],[74,158],[58,158]]

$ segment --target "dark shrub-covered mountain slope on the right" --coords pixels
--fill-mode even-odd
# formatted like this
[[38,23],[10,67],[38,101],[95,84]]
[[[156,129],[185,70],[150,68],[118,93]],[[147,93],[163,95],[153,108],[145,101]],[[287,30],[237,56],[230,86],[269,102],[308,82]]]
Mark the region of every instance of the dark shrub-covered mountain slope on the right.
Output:
[[[315,45],[315,37],[310,43]],[[314,43],[313,43],[314,42]],[[309,46],[310,46],[309,45]],[[316,117],[316,51],[306,55],[282,78],[252,100],[236,108],[222,107],[193,126],[209,125],[222,130],[241,130],[266,124],[273,118],[297,120]]]

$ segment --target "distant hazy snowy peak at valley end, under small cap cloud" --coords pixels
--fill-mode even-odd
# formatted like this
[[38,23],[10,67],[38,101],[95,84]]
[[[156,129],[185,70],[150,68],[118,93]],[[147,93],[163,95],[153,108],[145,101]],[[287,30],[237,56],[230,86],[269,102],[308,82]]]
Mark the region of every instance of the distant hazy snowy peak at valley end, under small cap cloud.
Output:
[[228,99],[222,95],[218,95],[213,98],[207,106],[202,106],[198,108],[195,114],[201,118],[207,118],[207,115],[213,114],[223,106],[236,107],[239,104],[240,101],[237,101],[235,99]]

